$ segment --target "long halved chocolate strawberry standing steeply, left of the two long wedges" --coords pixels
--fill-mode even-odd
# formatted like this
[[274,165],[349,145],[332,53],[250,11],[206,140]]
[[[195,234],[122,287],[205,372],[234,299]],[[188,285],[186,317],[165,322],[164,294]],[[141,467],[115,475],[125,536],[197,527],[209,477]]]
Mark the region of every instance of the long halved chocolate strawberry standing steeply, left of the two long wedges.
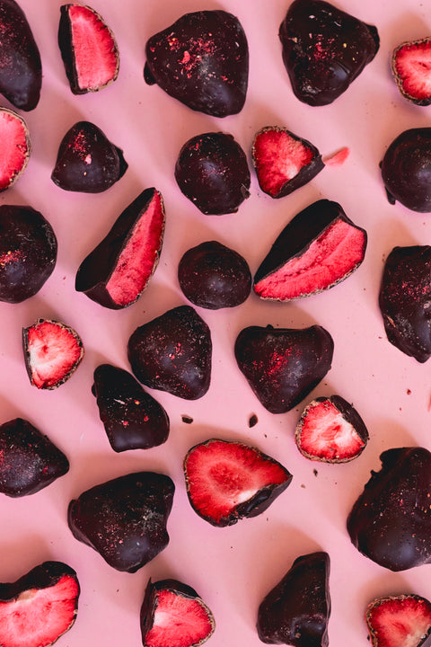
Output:
[[140,193],[81,263],[75,289],[114,310],[135,303],[159,262],[164,222],[162,194]]

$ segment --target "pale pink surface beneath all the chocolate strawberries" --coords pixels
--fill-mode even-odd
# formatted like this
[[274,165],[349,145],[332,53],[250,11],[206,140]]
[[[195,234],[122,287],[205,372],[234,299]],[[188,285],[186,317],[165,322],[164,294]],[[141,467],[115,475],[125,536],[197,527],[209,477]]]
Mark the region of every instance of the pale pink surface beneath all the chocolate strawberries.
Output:
[[[347,93],[330,106],[311,108],[295,99],[277,38],[288,0],[246,2],[104,0],[92,4],[118,40],[119,78],[101,93],[74,96],[57,47],[60,0],[21,0],[40,46],[43,86],[40,104],[26,113],[32,154],[28,167],[4,203],[40,210],[58,239],[57,267],[40,293],[21,305],[0,304],[0,406],[2,421],[27,418],[68,456],[71,468],[45,490],[13,500],[1,495],[0,581],[14,581],[48,559],[75,568],[82,587],[75,626],[58,647],[129,647],[141,644],[139,609],[148,578],[187,582],[212,609],[216,633],[211,647],[259,647],[255,630],[260,600],[300,554],[328,551],[331,558],[332,647],[364,647],[366,604],[375,597],[415,592],[431,598],[429,567],[393,573],[372,563],[351,545],[346,518],[370,470],[387,448],[430,447],[429,363],[420,365],[386,340],[377,307],[383,261],[394,245],[430,244],[431,217],[386,200],[378,164],[401,130],[429,125],[431,108],[406,102],[391,79],[391,49],[423,38],[431,18],[422,0],[343,0],[339,6],[375,24],[381,49]],[[198,9],[224,8],[242,22],[250,46],[251,74],[244,109],[213,119],[190,111],[143,80],[145,40]],[[2,105],[10,107],[4,100]],[[72,194],[50,180],[60,139],[76,121],[91,120],[124,151],[128,172],[99,195]],[[324,169],[285,199],[259,191],[252,173],[251,198],[237,214],[203,216],[184,198],[173,178],[180,146],[208,130],[232,133],[249,153],[255,133],[280,125],[312,141],[323,156],[350,148],[345,164]],[[159,267],[135,305],[110,311],[75,292],[75,272],[110,229],[119,212],[146,187],[156,187],[166,206],[166,231]],[[115,454],[91,393],[92,373],[101,362],[129,368],[128,337],[137,325],[186,303],[176,278],[189,247],[216,239],[242,253],[254,273],[281,229],[315,199],[339,201],[368,233],[365,261],[337,287],[291,304],[266,303],[251,295],[244,305],[216,312],[199,309],[211,328],[213,375],[208,393],[196,402],[153,392],[171,419],[171,435],[160,448]],[[57,391],[32,387],[22,359],[22,327],[37,318],[63,320],[81,335],[85,357]],[[300,407],[283,415],[263,409],[233,359],[233,343],[246,325],[303,327],[319,323],[335,342],[332,369]],[[321,465],[295,447],[295,423],[312,396],[340,394],[363,417],[370,441],[347,465]],[[258,424],[249,429],[251,413]],[[181,415],[193,418],[191,425]],[[182,459],[211,437],[241,439],[277,458],[294,474],[291,485],[258,518],[216,528],[198,518],[187,500]],[[170,545],[135,574],[111,569],[76,541],[66,523],[68,502],[84,489],[137,470],[169,474],[176,484],[168,521]],[[173,646],[172,646],[173,647]]]

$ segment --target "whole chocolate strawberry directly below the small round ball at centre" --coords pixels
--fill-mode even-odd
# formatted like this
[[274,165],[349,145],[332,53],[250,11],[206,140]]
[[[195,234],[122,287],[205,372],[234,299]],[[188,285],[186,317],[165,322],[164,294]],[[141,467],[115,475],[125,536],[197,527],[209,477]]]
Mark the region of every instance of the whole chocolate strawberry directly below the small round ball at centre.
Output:
[[211,355],[207,323],[191,306],[168,310],[136,328],[128,340],[128,360],[137,379],[186,400],[207,393]]

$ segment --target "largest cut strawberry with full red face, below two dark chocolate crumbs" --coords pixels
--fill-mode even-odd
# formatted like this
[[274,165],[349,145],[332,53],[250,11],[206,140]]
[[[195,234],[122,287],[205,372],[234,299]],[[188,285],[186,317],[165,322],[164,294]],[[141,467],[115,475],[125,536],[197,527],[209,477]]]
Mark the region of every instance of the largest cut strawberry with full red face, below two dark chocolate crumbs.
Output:
[[219,439],[189,449],[184,474],[191,507],[218,527],[256,517],[292,480],[283,465],[259,449]]

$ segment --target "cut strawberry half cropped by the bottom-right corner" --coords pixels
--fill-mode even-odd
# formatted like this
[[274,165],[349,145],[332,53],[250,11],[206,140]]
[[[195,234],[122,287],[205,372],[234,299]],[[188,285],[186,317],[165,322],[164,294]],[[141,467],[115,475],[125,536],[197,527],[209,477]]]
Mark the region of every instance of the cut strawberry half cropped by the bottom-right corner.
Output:
[[425,647],[431,603],[413,594],[376,598],[366,607],[365,621],[373,647]]

